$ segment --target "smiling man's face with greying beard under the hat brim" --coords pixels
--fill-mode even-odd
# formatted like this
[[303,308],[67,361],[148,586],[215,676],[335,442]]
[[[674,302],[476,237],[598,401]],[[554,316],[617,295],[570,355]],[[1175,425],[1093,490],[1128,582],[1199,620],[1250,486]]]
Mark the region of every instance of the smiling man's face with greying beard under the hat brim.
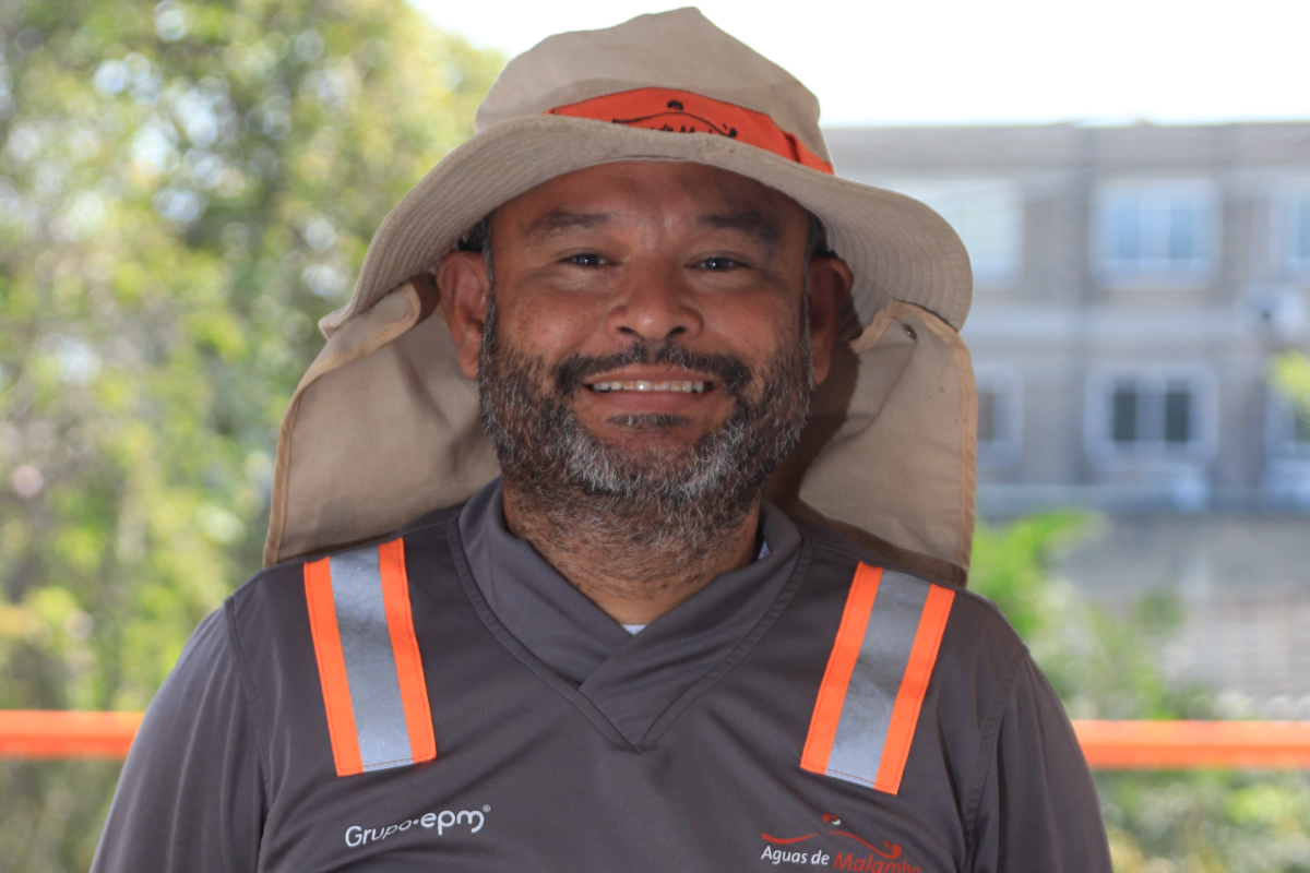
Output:
[[643,539],[697,539],[673,518],[689,503],[701,524],[740,521],[804,423],[808,229],[785,195],[677,162],[591,168],[500,207],[490,312],[460,360],[507,484],[646,517]]

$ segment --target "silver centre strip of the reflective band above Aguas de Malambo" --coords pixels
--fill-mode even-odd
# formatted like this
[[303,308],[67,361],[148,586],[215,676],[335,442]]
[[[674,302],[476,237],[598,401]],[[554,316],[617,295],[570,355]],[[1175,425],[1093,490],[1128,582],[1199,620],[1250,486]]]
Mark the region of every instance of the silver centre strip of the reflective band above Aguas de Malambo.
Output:
[[892,571],[878,582],[859,658],[846,686],[837,734],[828,757],[828,775],[865,785],[878,777],[892,707],[900,691],[929,584]]

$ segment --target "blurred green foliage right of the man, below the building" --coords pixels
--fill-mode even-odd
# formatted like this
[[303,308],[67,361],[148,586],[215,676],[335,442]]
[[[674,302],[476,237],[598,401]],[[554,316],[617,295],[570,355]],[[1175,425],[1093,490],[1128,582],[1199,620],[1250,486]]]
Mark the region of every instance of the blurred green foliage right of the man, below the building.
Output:
[[[1123,613],[1089,605],[1051,577],[1060,548],[1094,520],[1024,518],[980,526],[971,586],[1024,637],[1074,719],[1216,719],[1226,695],[1170,682],[1161,650],[1183,620],[1150,593]],[[1310,779],[1302,772],[1098,772],[1119,873],[1305,873]]]

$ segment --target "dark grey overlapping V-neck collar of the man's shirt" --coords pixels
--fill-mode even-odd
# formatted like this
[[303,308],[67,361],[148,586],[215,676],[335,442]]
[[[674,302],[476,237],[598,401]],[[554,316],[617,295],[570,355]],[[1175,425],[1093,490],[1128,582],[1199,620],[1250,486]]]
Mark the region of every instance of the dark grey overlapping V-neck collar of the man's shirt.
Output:
[[561,685],[576,690],[624,739],[642,747],[654,739],[650,734],[662,713],[715,673],[748,637],[753,641],[752,631],[766,616],[772,620],[778,610],[770,607],[785,589],[790,598],[794,585],[787,582],[798,571],[800,533],[772,504],[764,504],[760,517],[768,544],[764,558],[723,573],[637,635],[508,531],[499,479],[469,500],[452,525],[451,539],[452,546],[460,541],[468,560],[473,582],[468,588],[477,589],[476,599],[496,624]]

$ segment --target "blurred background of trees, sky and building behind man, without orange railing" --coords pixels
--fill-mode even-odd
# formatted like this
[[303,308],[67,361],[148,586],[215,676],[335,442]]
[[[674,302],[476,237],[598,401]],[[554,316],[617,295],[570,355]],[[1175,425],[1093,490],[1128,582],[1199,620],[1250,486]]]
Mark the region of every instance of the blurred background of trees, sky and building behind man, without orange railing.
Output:
[[[506,59],[659,5],[0,0],[0,708],[143,709],[282,412]],[[1310,4],[702,4],[960,232],[971,586],[1078,719],[1310,719]],[[119,764],[0,760],[0,870]],[[1100,772],[1116,869],[1310,870],[1302,772]]]

